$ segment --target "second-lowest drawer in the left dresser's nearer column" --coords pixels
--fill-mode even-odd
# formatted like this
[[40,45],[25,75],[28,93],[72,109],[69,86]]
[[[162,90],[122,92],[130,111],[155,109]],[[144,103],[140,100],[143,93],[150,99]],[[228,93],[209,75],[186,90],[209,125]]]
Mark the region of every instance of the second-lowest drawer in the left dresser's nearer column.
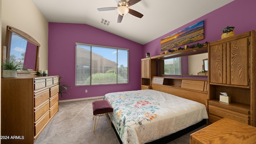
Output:
[[42,115],[44,115],[50,108],[50,101],[46,100],[38,107],[34,108],[34,121],[37,121]]

